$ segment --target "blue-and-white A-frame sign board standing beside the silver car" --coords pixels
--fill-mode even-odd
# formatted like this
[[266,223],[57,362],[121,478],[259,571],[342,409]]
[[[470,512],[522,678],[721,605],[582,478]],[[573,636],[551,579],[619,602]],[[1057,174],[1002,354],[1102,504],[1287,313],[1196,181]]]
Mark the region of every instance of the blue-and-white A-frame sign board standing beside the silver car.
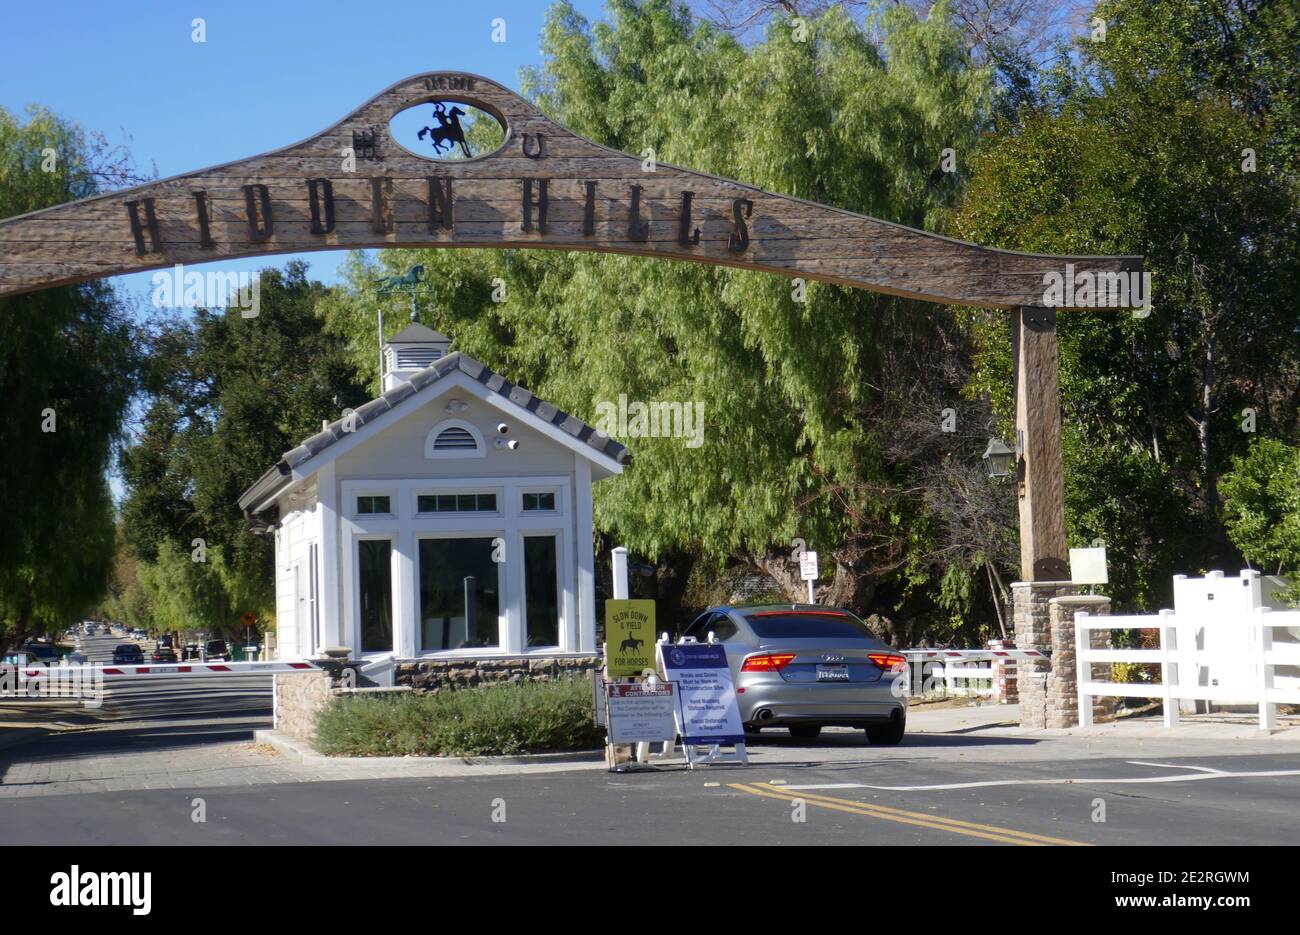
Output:
[[[719,644],[659,644],[663,671],[677,687],[677,732],[686,762],[748,763],[745,727],[736,705],[727,652]],[[722,752],[734,746],[736,753]],[[701,754],[698,748],[708,748]]]

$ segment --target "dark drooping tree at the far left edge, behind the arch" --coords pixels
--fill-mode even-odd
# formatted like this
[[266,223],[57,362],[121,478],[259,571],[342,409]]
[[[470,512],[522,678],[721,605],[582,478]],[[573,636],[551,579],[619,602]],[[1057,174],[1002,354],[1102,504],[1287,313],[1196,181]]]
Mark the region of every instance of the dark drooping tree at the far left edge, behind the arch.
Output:
[[[0,108],[0,217],[129,178],[120,151],[48,111]],[[95,606],[113,562],[105,472],[134,390],[133,329],[104,283],[0,299],[0,642]]]

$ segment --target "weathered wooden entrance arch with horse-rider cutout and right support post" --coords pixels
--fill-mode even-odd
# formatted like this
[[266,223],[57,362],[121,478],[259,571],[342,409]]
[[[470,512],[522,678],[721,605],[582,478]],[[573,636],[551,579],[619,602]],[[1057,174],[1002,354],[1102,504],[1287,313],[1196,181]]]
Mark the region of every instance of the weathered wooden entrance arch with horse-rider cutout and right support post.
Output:
[[[495,151],[434,160],[394,137],[390,121],[399,112],[437,104],[437,121],[448,127],[455,117],[448,124],[446,108],[458,103],[500,122]],[[430,129],[433,139],[438,127]],[[1062,576],[1054,309],[1044,308],[1044,277],[1071,269],[1114,278],[1140,272],[1141,257],[994,250],[663,163],[645,169],[638,156],[566,130],[494,81],[432,72],[282,150],[0,220],[0,296],[178,263],[312,250],[516,247],[712,263],[1018,309],[1018,382],[1026,390],[1018,397],[1027,402],[1017,421],[1028,440],[1022,573]],[[1044,516],[1050,519],[1036,534]]]

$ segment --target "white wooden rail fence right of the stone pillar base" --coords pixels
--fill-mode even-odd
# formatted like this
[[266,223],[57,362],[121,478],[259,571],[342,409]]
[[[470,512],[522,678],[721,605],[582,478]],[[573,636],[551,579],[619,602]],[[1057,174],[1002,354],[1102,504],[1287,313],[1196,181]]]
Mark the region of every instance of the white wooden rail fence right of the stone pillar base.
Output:
[[[1158,616],[1093,616],[1075,614],[1075,665],[1079,681],[1079,726],[1092,724],[1092,700],[1096,696],[1127,698],[1160,698],[1165,706],[1165,726],[1178,724],[1178,702],[1184,700],[1248,702],[1258,705],[1260,727],[1277,727],[1278,705],[1300,705],[1300,678],[1278,672],[1279,667],[1300,667],[1300,611],[1257,607],[1225,615],[1213,622],[1197,620],[1208,631],[1212,650],[1179,646],[1180,622],[1173,610]],[[1153,649],[1093,649],[1096,631],[1156,631]],[[1284,633],[1280,631],[1292,631]],[[1186,640],[1184,640],[1186,641]],[[1138,662],[1160,666],[1160,683],[1093,681],[1091,663]],[[1201,679],[1201,670],[1244,671],[1245,681],[1219,685],[1217,679]],[[1199,684],[1208,681],[1208,684]]]

